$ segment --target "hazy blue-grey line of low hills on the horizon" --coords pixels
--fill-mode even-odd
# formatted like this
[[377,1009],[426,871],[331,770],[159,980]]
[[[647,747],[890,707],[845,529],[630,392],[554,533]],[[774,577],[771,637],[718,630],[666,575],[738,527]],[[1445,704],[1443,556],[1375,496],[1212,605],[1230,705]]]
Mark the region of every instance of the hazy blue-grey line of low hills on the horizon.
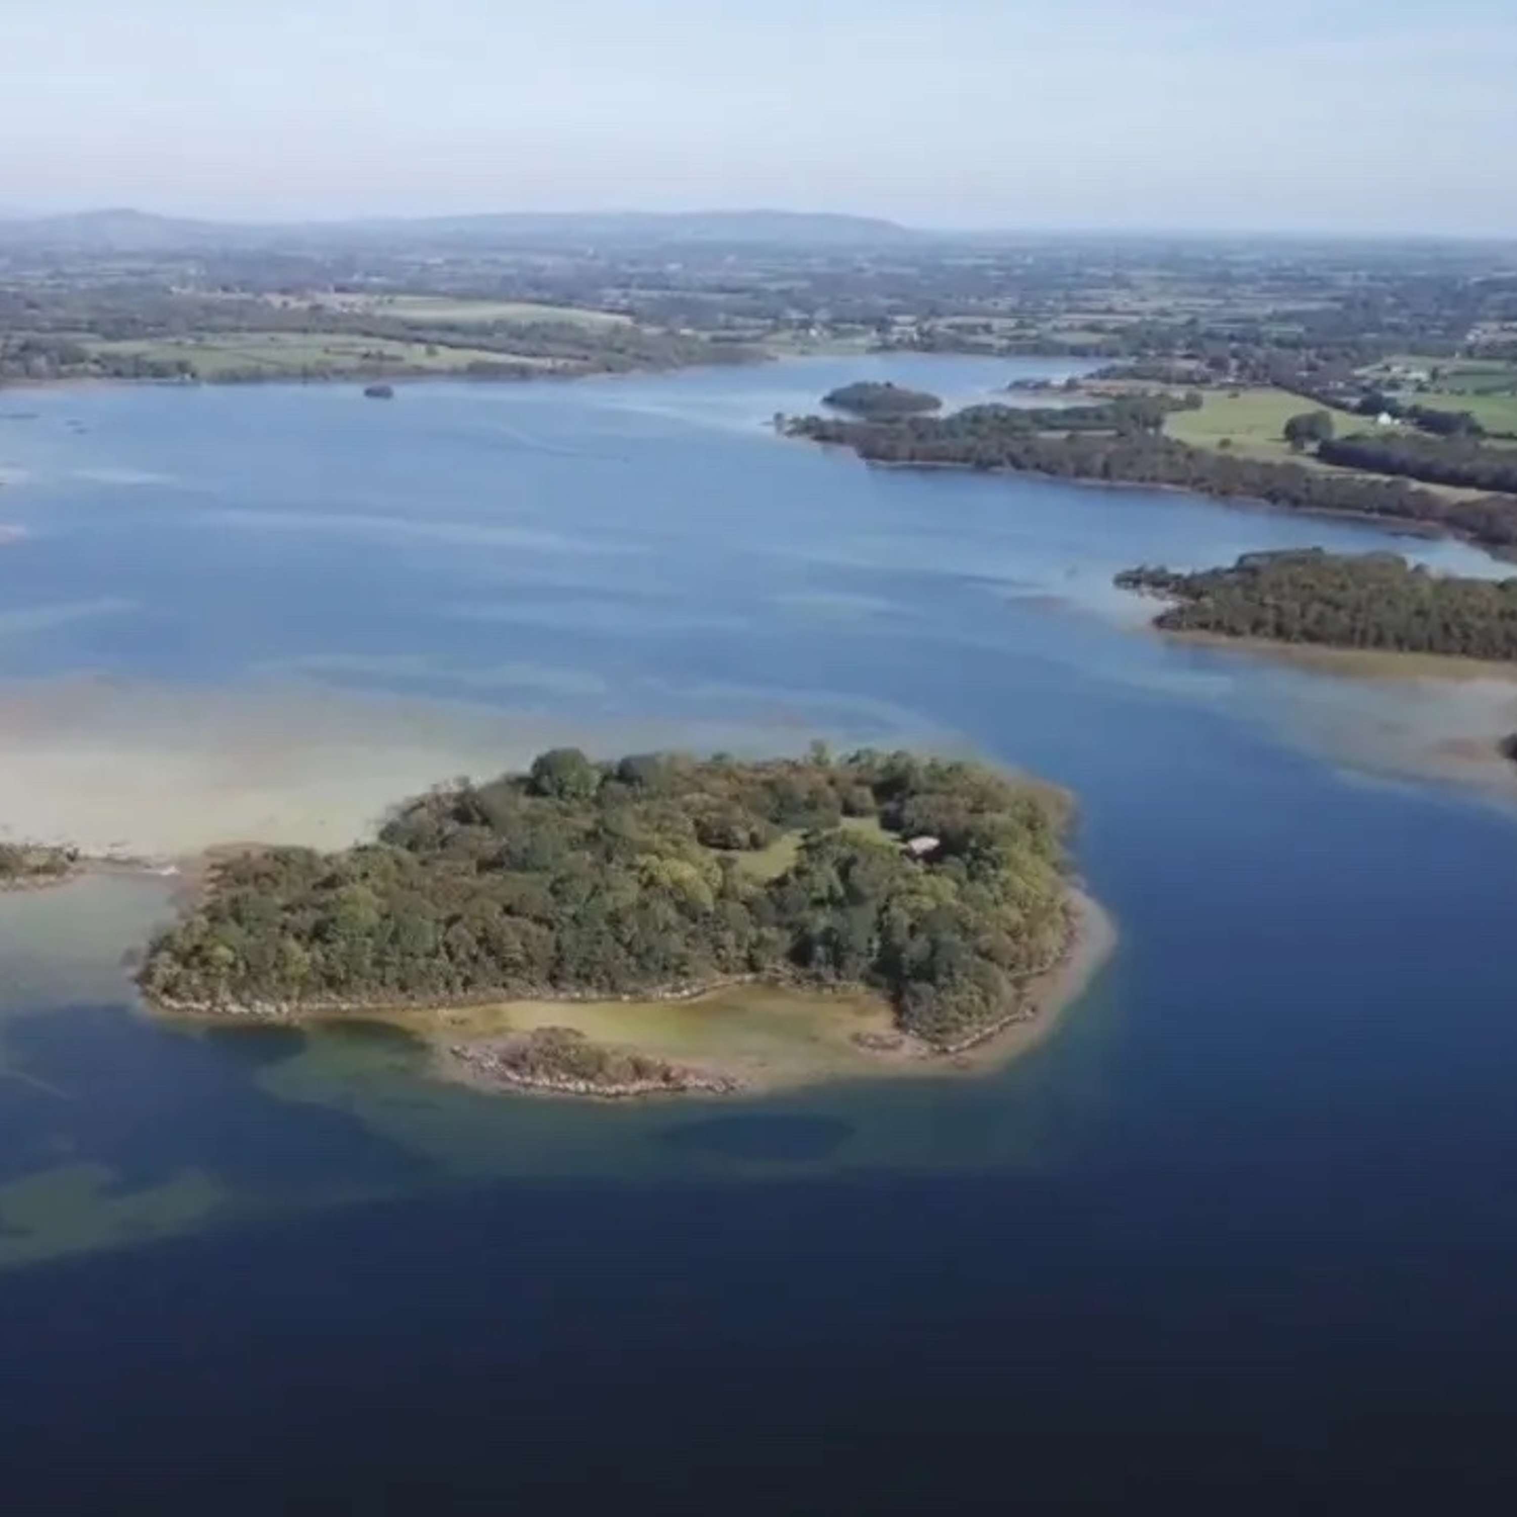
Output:
[[244,247],[513,246],[802,246],[846,247],[909,241],[921,234],[895,221],[809,211],[508,211],[479,215],[391,217],[352,221],[199,221],[147,211],[0,218],[0,247],[77,253],[170,253]]

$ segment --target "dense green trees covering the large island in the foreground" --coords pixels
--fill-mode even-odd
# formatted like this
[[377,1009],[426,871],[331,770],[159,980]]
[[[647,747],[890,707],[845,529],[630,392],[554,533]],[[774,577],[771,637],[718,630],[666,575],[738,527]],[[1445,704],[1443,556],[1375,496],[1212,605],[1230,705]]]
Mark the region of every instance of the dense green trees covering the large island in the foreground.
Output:
[[1045,787],[901,752],[555,749],[410,801],[375,843],[223,865],[141,985],[167,1006],[299,1010],[863,983],[950,1044],[1013,1013],[1065,950],[1065,822]]

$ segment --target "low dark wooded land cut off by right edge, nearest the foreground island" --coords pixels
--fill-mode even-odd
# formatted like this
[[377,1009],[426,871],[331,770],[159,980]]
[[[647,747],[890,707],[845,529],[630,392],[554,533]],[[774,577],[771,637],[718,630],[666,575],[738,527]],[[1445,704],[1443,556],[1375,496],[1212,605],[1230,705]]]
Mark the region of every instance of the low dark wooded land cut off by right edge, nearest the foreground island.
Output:
[[1142,567],[1117,583],[1179,602],[1156,620],[1170,631],[1517,658],[1517,579],[1435,575],[1397,554],[1244,554],[1230,569]]

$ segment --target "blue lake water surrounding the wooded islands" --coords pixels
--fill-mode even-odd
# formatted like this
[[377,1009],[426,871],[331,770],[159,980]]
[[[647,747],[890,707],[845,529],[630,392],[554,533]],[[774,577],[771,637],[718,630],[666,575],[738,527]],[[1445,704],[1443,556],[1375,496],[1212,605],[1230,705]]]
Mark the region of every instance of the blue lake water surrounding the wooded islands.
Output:
[[1121,930],[977,1080],[628,1107],[375,1027],[181,1029],[171,878],[0,897],[17,1509],[995,1509],[1494,1484],[1517,1352],[1517,686],[1164,639],[1110,584],[1393,540],[871,470],[795,360],[6,391],[0,836],[340,845],[555,742],[922,745],[1079,798]]

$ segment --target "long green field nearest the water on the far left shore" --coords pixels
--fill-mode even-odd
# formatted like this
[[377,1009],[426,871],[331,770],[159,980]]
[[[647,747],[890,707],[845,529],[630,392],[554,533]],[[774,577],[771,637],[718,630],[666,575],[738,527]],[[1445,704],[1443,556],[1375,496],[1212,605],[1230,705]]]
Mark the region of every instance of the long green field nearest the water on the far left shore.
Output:
[[99,353],[141,356],[155,363],[185,360],[200,379],[267,373],[299,378],[311,370],[370,375],[384,370],[455,373],[472,363],[510,363],[532,369],[558,367],[549,358],[496,353],[484,347],[397,343],[337,332],[228,332],[126,341],[88,341]]

